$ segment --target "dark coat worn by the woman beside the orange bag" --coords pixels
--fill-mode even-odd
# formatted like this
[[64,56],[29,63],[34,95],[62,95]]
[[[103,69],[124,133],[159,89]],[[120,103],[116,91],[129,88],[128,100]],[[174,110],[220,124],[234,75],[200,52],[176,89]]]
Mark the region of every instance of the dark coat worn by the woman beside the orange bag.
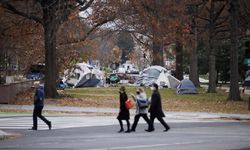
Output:
[[125,102],[127,99],[128,99],[128,96],[126,93],[120,93],[120,112],[117,116],[117,119],[119,120],[130,119],[129,110],[125,107]]

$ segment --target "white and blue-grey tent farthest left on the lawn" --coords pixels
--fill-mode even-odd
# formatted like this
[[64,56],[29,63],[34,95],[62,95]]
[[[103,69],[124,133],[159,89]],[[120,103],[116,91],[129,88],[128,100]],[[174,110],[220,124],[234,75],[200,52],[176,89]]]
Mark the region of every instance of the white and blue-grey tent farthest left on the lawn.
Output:
[[63,82],[71,87],[95,87],[103,79],[100,70],[87,63],[78,63],[69,71],[65,71]]

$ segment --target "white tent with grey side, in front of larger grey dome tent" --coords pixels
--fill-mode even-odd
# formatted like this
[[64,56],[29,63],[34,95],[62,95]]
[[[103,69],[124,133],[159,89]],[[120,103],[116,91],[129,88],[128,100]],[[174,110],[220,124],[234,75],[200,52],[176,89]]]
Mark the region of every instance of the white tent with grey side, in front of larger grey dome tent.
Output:
[[161,71],[158,79],[156,80],[156,84],[158,84],[159,86],[176,89],[180,84],[180,81],[169,73]]

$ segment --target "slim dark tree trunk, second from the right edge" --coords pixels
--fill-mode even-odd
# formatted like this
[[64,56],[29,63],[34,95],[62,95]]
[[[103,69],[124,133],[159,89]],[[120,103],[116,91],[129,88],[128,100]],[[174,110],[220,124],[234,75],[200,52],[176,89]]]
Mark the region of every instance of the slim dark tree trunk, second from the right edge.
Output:
[[214,34],[215,34],[215,22],[214,22],[214,1],[211,1],[210,8],[210,25],[209,25],[209,85],[208,93],[216,93],[216,57],[214,49]]

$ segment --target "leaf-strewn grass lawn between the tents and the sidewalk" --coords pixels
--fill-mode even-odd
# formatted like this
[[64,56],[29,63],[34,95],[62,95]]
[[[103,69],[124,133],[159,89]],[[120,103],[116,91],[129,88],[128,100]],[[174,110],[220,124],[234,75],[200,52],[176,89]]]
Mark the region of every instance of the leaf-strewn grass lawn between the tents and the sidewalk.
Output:
[[[135,94],[136,87],[126,87],[127,94]],[[56,100],[46,99],[50,105],[60,106],[81,106],[81,107],[119,107],[119,87],[108,88],[76,88],[66,89],[60,92],[62,98]],[[148,96],[152,91],[145,89]],[[248,108],[249,95],[242,94],[242,101],[227,101],[228,93],[218,90],[217,93],[206,93],[203,88],[199,94],[177,95],[175,90],[160,89],[163,109],[165,111],[186,111],[186,112],[215,112],[215,113],[243,113],[250,114]],[[30,96],[32,97],[32,96]],[[32,104],[32,98],[22,100],[17,104]]]

